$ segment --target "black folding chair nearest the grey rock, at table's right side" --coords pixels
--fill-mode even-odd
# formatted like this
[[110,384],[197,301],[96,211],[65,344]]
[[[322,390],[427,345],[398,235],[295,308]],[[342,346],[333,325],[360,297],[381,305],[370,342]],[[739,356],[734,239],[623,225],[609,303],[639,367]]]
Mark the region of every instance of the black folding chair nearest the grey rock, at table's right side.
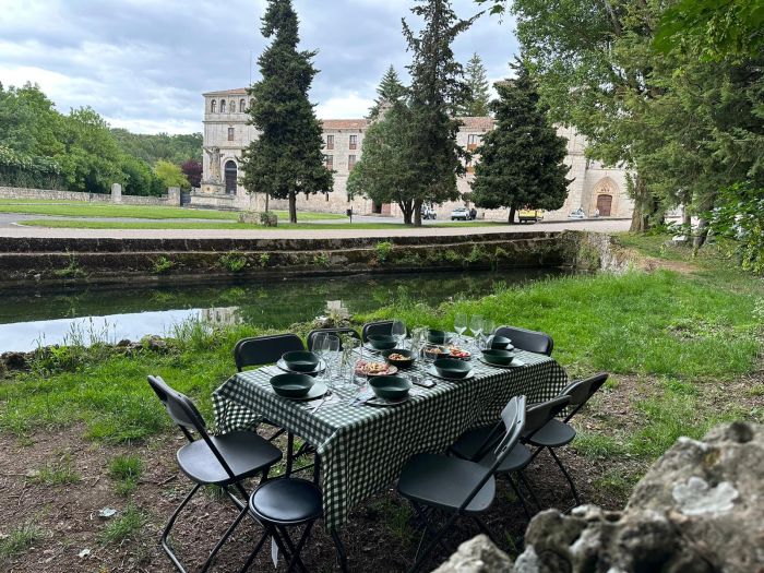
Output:
[[[449,551],[443,536],[462,516],[471,518],[480,532],[498,544],[479,515],[493,503],[494,475],[520,440],[525,425],[525,396],[512,398],[501,413],[501,419],[504,435],[493,450],[494,461],[491,465],[437,454],[417,454],[406,462],[397,490],[409,500],[425,525],[425,533],[431,537],[410,571],[417,571],[437,545]],[[428,515],[426,509],[432,510],[430,513],[440,511],[450,515],[445,524],[435,529],[430,521],[432,515]]]

